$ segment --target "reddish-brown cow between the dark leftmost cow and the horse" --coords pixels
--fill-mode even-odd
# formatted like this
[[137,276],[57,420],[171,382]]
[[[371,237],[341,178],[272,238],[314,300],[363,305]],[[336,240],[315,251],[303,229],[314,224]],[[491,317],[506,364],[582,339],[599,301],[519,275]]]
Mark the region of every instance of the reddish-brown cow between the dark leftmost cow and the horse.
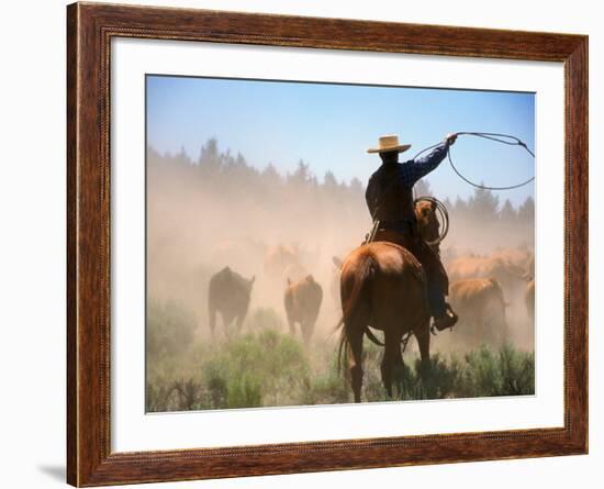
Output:
[[284,303],[290,332],[292,335],[295,334],[294,324],[299,323],[305,345],[311,342],[322,300],[323,289],[314,281],[312,275],[297,282],[288,278]]

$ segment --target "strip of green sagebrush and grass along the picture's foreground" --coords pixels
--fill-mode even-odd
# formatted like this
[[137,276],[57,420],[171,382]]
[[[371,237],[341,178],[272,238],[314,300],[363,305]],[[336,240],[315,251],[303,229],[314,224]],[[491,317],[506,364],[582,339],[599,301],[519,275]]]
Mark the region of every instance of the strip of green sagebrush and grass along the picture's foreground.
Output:
[[[260,312],[258,318],[269,313]],[[178,308],[155,312],[155,338],[167,344],[156,349],[147,365],[147,411],[312,405],[351,402],[347,369],[338,370],[336,346],[315,344],[305,349],[288,333],[258,329],[211,343],[195,342],[192,323]],[[153,324],[155,324],[153,323]],[[168,329],[166,325],[170,325]],[[179,340],[169,340],[175,331]],[[188,343],[184,338],[192,338]],[[171,343],[170,343],[171,342]],[[186,346],[188,344],[188,346]],[[160,352],[160,353],[159,353]],[[535,356],[504,345],[461,358],[435,353],[428,366],[406,354],[394,371],[393,396],[381,380],[383,348],[365,343],[363,401],[474,398],[535,392]]]

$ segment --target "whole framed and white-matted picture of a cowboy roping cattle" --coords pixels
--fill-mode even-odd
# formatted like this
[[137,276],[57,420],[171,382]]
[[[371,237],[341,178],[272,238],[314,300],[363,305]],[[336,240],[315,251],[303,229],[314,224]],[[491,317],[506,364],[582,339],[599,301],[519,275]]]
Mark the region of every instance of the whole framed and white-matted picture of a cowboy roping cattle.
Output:
[[67,9],[74,486],[588,452],[588,37]]

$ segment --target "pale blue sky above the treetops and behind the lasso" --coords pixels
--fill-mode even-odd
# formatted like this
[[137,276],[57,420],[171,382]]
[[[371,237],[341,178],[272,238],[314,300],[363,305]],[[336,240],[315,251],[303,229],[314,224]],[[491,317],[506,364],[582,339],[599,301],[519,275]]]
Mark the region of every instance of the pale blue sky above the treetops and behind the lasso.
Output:
[[[338,180],[357,177],[365,185],[380,164],[367,148],[380,135],[398,134],[401,143],[411,143],[400,156],[406,160],[459,131],[513,134],[534,149],[535,96],[147,76],[147,143],[160,153],[183,147],[193,159],[216,137],[221,151],[242,153],[258,168],[272,163],[284,175],[303,159],[320,180],[331,170]],[[451,156],[466,176],[485,185],[514,185],[534,175],[534,159],[517,146],[466,136]],[[443,199],[473,192],[447,160],[427,179]],[[496,193],[502,202],[519,204],[534,195],[534,186]]]

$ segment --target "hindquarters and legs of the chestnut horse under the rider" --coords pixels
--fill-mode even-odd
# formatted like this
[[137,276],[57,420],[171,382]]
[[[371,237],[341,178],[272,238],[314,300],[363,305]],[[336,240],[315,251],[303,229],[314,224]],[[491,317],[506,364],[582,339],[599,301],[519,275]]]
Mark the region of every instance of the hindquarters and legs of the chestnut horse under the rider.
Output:
[[403,367],[401,342],[413,333],[420,345],[424,373],[429,367],[429,319],[426,277],[417,259],[404,247],[372,242],[356,248],[342,266],[343,319],[338,360],[343,354],[348,368],[355,402],[362,387],[362,341],[367,334],[377,342],[369,326],[384,333],[381,376],[392,397],[394,374]]

